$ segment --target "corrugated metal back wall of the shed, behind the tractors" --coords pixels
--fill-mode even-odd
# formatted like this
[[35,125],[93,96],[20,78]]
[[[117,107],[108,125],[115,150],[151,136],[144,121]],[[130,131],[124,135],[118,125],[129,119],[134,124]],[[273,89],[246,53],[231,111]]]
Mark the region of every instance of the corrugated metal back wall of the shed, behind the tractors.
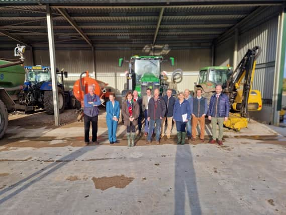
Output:
[[[11,50],[10,58],[13,57]],[[7,56],[7,51],[0,51],[0,57]],[[125,57],[126,60],[132,55],[146,55],[141,50],[98,50],[96,51],[96,71],[97,79],[109,84],[113,92],[120,95],[126,83],[124,71],[128,70],[128,63],[122,67],[118,66],[118,59]],[[176,68],[183,70],[183,80],[177,84],[177,89],[183,91],[188,88],[194,89],[194,82],[197,82],[198,71],[201,67],[211,65],[211,49],[189,49],[189,50],[171,50],[166,58],[175,58],[175,65],[171,66],[168,61],[162,63],[161,70],[168,74]],[[25,65],[31,65],[31,55],[29,51],[25,53]],[[34,50],[35,64],[49,65],[49,52],[47,50]],[[92,52],[89,50],[56,50],[56,64],[59,69],[64,68],[68,71],[68,78],[65,79],[65,85],[72,88],[73,83],[79,78],[82,71],[88,70],[92,75],[93,61]]]

